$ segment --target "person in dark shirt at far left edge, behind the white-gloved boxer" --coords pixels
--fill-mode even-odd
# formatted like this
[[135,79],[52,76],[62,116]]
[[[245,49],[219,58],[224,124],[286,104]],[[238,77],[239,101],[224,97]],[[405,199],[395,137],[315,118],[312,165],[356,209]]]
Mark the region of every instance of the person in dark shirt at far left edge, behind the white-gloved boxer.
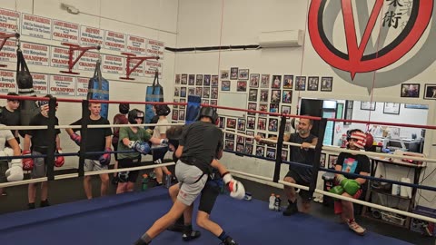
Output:
[[[18,96],[18,93],[7,93],[7,95]],[[5,107],[0,107],[0,123],[5,124],[6,126],[19,126],[20,125],[20,112],[18,111],[18,107],[20,106],[20,101],[14,99],[7,99]],[[18,146],[20,144],[20,137],[17,130],[11,130],[12,134],[15,137]],[[8,141],[5,141],[5,147],[11,148],[11,145],[8,144]],[[20,150],[21,153],[21,150]],[[5,192],[5,188],[0,188],[0,195],[7,195]]]

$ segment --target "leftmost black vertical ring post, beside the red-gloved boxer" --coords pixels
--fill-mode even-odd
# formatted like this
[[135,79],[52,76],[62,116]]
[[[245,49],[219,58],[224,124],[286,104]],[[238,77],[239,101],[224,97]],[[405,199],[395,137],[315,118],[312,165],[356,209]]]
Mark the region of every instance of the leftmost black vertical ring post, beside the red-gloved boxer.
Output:
[[54,151],[56,150],[56,130],[54,129],[56,120],[56,98],[50,98],[48,101],[48,124],[47,124],[47,156],[45,157],[45,166],[47,166],[47,180],[54,181]]

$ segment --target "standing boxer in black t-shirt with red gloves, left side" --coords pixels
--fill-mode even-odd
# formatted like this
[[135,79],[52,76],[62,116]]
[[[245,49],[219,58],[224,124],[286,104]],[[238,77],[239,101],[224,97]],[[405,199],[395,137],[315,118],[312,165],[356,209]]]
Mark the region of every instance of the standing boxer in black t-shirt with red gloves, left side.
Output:
[[[45,95],[46,98],[52,98],[53,96],[50,94]],[[31,120],[31,126],[48,126],[49,118],[48,118],[48,101],[39,101],[38,102],[41,113],[36,114]],[[57,110],[57,106],[55,108]],[[59,125],[59,120],[57,117],[54,117],[54,125]],[[47,148],[49,144],[55,144],[55,148],[58,151],[61,150],[61,141],[59,138],[59,133],[61,131],[59,129],[55,130],[56,138],[55,142],[49,142],[47,139],[48,129],[45,130],[28,130],[25,133],[25,142],[23,144],[23,156],[40,156],[47,153]],[[45,162],[46,158],[24,158],[23,159],[23,170],[32,171],[31,178],[42,178],[46,175],[47,162]],[[59,162],[59,163],[56,163]],[[54,159],[55,165],[62,165],[64,163],[64,157],[56,157]],[[38,183],[30,183],[28,188],[28,209],[35,209],[35,197],[36,197],[36,185]],[[48,181],[41,182],[41,203],[40,207],[50,206],[48,202]]]

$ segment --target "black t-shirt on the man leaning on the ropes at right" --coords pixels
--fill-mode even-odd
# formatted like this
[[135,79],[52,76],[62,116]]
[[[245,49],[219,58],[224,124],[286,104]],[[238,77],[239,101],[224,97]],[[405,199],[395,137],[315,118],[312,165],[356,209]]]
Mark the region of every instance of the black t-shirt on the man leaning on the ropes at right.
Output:
[[[312,143],[313,139],[315,138],[316,136],[313,134],[310,134],[306,138],[302,138],[300,134],[294,132],[291,134],[289,142],[300,143],[300,144],[303,142]],[[290,147],[291,147],[291,151],[290,151],[291,162],[298,162],[298,163],[312,166],[315,156],[315,151],[313,149],[304,150],[300,146],[290,146]],[[305,168],[302,166],[289,165],[289,170],[294,171],[298,175],[300,175],[303,181],[311,181],[312,179],[312,168],[310,167]]]

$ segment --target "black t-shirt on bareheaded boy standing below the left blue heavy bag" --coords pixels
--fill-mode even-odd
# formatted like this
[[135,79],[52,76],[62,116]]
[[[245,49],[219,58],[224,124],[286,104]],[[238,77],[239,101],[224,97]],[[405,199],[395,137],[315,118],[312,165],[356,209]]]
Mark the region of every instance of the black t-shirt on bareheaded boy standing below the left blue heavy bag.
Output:
[[[88,125],[102,125],[109,124],[109,121],[104,117],[98,120],[89,118]],[[82,125],[82,119],[79,119],[71,125]],[[74,132],[81,131],[81,129],[73,129]],[[80,132],[82,134],[82,131]],[[106,137],[112,135],[111,128],[88,128],[86,135],[85,151],[86,152],[104,152],[106,146]],[[98,160],[100,155],[86,155],[86,159]]]

